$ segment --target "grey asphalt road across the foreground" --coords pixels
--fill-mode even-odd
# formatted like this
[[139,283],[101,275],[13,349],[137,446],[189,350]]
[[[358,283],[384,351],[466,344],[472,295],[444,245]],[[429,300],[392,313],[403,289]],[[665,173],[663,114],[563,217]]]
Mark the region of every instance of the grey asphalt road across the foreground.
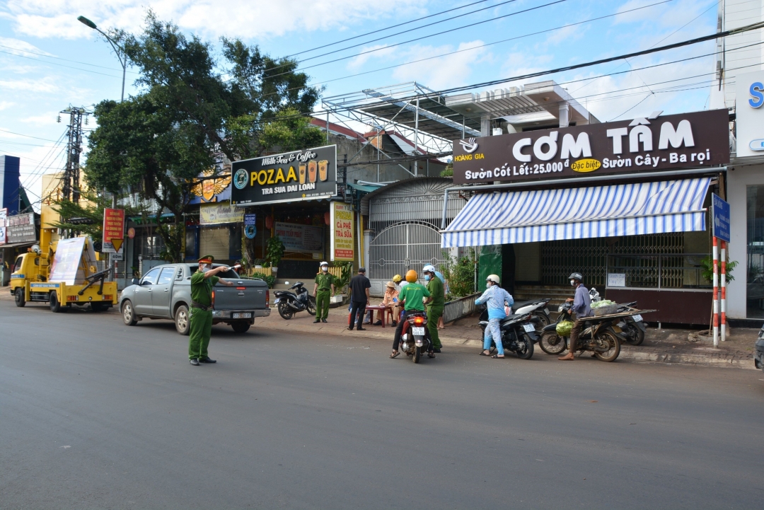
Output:
[[[764,376],[0,302],[0,508],[760,508]],[[370,344],[371,342],[371,344]]]

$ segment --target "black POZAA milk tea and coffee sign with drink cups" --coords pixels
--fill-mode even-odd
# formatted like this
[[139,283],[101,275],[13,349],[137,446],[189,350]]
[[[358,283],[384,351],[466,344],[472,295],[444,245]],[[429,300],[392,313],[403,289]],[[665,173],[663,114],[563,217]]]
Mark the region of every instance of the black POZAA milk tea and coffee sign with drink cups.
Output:
[[231,204],[264,205],[337,195],[337,146],[231,163]]

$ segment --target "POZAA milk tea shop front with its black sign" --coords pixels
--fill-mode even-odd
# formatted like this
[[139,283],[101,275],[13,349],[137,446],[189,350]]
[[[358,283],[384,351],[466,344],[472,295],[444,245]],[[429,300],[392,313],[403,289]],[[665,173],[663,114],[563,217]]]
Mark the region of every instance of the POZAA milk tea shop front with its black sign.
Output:
[[[358,263],[358,215],[337,210],[348,206],[337,193],[334,145],[236,161],[231,172],[231,204],[251,221],[244,235],[250,260],[266,259],[268,240],[278,236],[285,248],[279,279],[312,278],[322,260]],[[334,250],[338,239],[343,247]]]

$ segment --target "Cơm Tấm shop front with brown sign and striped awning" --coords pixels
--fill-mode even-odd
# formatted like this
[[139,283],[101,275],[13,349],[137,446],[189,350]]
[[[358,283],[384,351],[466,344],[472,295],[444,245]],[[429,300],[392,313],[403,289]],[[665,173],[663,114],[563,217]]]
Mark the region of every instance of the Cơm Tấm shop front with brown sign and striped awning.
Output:
[[727,126],[717,110],[461,140],[455,183],[478,186],[452,190],[472,196],[442,247],[481,247],[481,276],[518,297],[568,297],[578,271],[607,299],[658,308],[652,321],[707,324]]

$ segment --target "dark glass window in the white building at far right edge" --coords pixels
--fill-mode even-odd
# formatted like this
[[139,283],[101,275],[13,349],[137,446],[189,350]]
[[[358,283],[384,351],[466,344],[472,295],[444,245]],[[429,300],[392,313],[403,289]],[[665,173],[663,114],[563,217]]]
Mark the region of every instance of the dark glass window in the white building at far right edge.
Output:
[[746,195],[746,314],[764,318],[764,186],[748,186]]

